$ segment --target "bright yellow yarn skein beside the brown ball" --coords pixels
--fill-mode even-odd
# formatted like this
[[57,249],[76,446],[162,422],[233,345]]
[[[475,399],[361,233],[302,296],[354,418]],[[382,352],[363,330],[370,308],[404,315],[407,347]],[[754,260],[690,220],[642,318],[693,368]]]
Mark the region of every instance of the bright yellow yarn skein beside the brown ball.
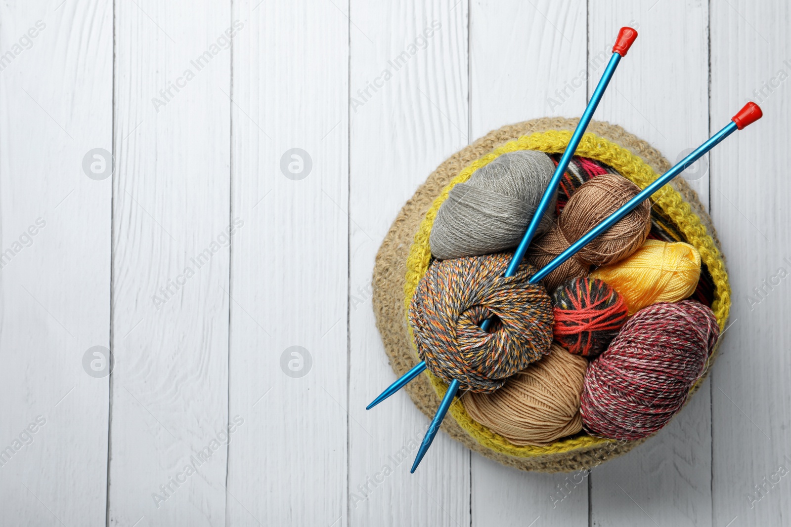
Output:
[[629,314],[691,295],[700,278],[700,253],[689,243],[649,239],[629,258],[591,273],[623,295]]

